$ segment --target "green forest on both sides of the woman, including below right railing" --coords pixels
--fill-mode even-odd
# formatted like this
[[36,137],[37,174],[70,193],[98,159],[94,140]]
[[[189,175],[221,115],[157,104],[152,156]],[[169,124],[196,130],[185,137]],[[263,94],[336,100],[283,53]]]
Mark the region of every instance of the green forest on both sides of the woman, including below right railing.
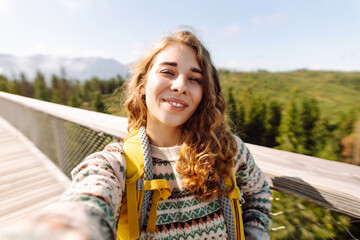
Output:
[[[227,120],[245,142],[360,165],[360,72],[221,69],[219,74]],[[45,79],[37,72],[34,79],[0,75],[0,91],[125,116],[124,81],[118,75],[80,82],[67,78],[65,71]],[[273,212],[294,211],[274,217],[275,228],[309,226],[273,232],[272,239],[347,239],[349,229],[360,234],[354,219],[313,203],[277,191],[272,203]],[[299,207],[308,210],[297,211]]]

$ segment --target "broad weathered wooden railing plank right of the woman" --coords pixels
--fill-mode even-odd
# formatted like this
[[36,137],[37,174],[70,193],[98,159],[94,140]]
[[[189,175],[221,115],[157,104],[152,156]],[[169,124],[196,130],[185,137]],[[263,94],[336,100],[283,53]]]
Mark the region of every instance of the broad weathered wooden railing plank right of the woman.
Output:
[[360,218],[360,167],[246,144],[272,188]]

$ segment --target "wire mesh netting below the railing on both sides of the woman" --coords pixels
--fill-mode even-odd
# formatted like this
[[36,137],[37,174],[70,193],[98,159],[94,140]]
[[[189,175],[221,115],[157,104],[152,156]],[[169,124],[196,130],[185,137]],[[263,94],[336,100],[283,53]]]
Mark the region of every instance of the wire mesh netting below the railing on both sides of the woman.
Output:
[[[118,137],[0,98],[6,119],[70,178],[89,154]],[[271,239],[359,239],[360,219],[315,203],[273,191]]]

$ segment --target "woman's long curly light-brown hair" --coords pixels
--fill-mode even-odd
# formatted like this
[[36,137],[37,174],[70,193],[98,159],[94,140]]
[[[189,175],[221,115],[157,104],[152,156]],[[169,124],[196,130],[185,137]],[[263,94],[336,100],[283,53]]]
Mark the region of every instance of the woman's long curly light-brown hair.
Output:
[[191,118],[181,126],[183,144],[176,170],[183,175],[185,188],[203,201],[212,201],[234,188],[232,180],[232,187],[223,189],[221,179],[232,174],[237,144],[225,120],[226,102],[219,74],[209,51],[191,31],[178,31],[163,38],[133,68],[133,76],[126,83],[128,131],[146,125],[147,107],[141,89],[146,85],[156,56],[174,44],[191,47],[203,72],[202,100]]

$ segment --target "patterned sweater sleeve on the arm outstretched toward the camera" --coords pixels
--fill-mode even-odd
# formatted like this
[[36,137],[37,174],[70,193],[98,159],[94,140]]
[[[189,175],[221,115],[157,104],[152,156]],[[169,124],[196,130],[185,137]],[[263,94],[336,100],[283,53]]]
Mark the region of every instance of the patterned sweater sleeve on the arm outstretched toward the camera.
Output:
[[[72,171],[60,201],[11,229],[4,239],[116,239],[126,161],[119,143],[88,156]],[[19,225],[16,226],[19,229]],[[1,235],[1,234],[0,234]],[[2,238],[3,239],[3,238]]]

